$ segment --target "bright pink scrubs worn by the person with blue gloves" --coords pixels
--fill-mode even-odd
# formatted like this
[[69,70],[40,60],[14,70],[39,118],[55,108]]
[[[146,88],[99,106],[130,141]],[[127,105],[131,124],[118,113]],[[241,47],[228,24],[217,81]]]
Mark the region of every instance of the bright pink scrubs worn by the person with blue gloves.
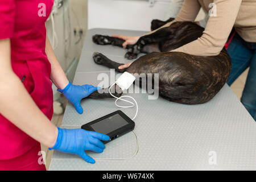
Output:
[[[53,0],[0,0],[0,39],[10,38],[13,71],[49,119],[53,95],[45,22],[52,5]],[[0,170],[46,170],[38,162],[40,150],[39,142],[0,113]]]

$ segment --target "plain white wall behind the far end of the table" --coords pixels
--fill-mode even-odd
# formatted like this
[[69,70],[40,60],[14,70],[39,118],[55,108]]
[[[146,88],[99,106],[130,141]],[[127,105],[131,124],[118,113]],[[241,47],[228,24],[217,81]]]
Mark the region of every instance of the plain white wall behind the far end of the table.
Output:
[[88,29],[149,31],[152,19],[164,19],[170,0],[88,0]]

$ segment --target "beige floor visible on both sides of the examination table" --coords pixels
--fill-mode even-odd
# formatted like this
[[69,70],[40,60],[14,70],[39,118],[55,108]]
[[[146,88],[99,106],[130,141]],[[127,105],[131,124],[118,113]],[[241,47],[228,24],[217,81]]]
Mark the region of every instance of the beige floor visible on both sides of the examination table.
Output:
[[[231,89],[236,94],[238,99],[240,99],[241,96],[242,96],[242,91],[243,91],[243,87],[245,86],[245,82],[246,82],[246,77],[247,77],[248,71],[249,71],[249,69],[247,69],[245,72],[243,72],[243,74],[240,77],[238,77],[238,79],[231,86]],[[67,102],[65,104],[67,104]],[[62,119],[63,119],[63,115],[64,114],[61,114],[61,115],[53,114],[52,122],[56,126],[60,126],[61,122],[62,122]],[[46,163],[46,168],[48,169],[49,168],[49,164],[51,162],[53,151],[49,151],[48,148],[46,146],[43,146],[43,145],[42,145],[42,151],[46,152],[45,163]]]

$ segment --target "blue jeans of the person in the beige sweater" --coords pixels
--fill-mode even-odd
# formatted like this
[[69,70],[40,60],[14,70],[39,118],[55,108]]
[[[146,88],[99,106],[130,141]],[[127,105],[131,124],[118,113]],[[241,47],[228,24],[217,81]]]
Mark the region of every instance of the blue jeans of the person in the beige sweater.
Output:
[[241,102],[256,121],[256,43],[246,42],[236,34],[227,51],[232,59],[229,86],[250,67]]

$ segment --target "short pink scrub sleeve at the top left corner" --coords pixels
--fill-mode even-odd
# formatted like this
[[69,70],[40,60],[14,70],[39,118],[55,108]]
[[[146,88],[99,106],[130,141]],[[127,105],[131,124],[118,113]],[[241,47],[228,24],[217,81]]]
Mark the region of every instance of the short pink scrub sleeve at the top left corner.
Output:
[[0,39],[13,36],[15,22],[15,0],[0,0]]

